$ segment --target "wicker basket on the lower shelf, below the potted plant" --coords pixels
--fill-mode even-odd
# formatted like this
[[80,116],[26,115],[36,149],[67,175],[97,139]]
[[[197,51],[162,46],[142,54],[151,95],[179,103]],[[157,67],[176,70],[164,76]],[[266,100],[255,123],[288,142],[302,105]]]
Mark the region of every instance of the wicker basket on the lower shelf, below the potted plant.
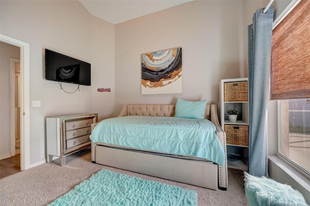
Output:
[[225,124],[225,132],[227,144],[248,146],[248,125]]

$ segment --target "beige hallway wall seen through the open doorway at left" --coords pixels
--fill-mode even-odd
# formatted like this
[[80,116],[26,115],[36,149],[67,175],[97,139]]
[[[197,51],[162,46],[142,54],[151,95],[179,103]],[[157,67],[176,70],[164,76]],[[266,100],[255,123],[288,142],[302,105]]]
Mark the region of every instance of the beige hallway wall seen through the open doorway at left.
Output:
[[0,159],[11,155],[11,58],[19,59],[19,47],[0,42]]

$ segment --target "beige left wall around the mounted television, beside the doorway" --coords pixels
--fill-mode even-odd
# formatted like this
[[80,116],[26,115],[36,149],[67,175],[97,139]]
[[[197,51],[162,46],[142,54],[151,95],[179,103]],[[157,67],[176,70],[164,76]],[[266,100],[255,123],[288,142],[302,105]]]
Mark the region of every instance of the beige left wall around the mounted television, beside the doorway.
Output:
[[[79,1],[71,0],[0,1],[0,19],[1,34],[30,44],[30,163],[33,164],[46,159],[47,116],[86,112],[99,113],[99,119],[111,116],[115,95],[114,25],[90,15]],[[80,86],[79,91],[68,94],[57,82],[45,80],[45,48],[90,62],[92,86]],[[62,87],[72,92],[78,85],[63,83]],[[99,87],[112,91],[99,93]],[[32,107],[33,100],[40,100],[41,107]]]

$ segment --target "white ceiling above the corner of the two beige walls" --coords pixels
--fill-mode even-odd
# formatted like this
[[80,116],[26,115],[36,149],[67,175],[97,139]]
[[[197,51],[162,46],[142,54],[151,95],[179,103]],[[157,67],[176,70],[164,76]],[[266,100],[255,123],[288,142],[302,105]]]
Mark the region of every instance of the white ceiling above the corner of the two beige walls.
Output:
[[192,0],[79,0],[94,16],[112,24],[152,14]]

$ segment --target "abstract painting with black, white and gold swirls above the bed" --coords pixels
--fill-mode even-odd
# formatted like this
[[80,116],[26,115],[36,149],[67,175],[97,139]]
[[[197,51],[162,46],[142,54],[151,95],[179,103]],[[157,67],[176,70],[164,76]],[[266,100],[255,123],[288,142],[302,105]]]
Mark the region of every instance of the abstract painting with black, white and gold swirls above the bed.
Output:
[[141,94],[182,93],[182,48],[141,55]]

